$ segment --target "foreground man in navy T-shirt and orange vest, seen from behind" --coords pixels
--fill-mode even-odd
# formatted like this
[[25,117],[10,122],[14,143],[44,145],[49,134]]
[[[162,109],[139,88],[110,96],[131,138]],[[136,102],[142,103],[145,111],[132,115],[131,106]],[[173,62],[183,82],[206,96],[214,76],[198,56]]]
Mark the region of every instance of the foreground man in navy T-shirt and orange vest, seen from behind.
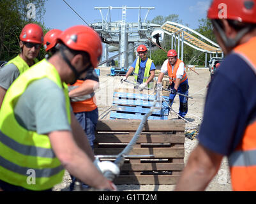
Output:
[[176,191],[206,189],[224,156],[232,189],[256,191],[256,0],[213,0],[207,17],[226,57],[209,84],[199,145]]

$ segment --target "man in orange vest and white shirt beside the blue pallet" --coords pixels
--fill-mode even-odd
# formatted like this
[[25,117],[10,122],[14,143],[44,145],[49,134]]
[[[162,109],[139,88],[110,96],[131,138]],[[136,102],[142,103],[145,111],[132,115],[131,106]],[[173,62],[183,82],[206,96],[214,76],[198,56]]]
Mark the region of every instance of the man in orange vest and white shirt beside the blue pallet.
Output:
[[[158,76],[158,82],[156,87],[162,89],[163,75],[168,73],[170,80],[170,96],[169,106],[172,106],[176,93],[179,92],[188,96],[188,76],[186,75],[184,62],[177,58],[176,50],[169,50],[167,52],[167,60],[163,62],[161,72]],[[184,118],[188,113],[188,98],[179,96],[179,117],[178,119]]]

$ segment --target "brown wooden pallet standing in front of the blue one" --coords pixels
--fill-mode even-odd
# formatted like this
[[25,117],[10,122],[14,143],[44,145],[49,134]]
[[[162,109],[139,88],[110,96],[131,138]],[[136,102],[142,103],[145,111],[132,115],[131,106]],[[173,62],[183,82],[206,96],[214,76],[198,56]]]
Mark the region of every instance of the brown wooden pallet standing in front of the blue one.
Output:
[[[117,155],[130,142],[140,120],[99,120],[96,126],[96,155]],[[184,121],[147,120],[146,126],[121,166],[115,184],[176,184],[184,168]],[[141,157],[153,154],[154,157]],[[114,161],[113,159],[101,159]]]

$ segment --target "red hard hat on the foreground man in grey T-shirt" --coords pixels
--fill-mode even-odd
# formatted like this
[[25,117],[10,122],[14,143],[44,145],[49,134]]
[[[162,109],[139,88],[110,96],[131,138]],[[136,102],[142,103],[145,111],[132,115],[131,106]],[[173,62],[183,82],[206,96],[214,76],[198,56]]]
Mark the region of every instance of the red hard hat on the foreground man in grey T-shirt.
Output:
[[63,41],[72,50],[87,52],[93,68],[98,66],[98,62],[102,57],[102,41],[98,33],[91,27],[86,25],[72,26],[63,31],[57,39]]

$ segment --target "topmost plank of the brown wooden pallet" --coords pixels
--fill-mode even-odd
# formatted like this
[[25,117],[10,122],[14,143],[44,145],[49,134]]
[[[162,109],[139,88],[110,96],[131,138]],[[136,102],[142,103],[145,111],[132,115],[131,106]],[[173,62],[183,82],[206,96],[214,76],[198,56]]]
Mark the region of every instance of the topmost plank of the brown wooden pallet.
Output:
[[[134,131],[140,120],[98,120],[97,131]],[[184,131],[183,120],[147,120],[143,131]]]

